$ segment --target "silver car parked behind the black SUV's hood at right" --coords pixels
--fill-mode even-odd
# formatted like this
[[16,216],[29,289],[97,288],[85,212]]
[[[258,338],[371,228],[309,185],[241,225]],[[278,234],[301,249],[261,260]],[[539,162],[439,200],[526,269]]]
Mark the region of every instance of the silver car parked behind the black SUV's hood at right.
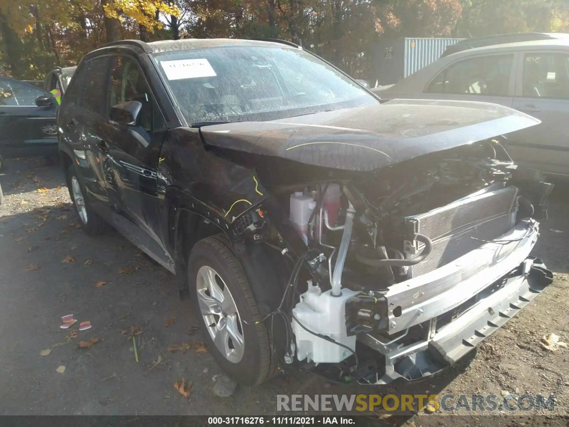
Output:
[[483,101],[530,114],[541,124],[506,136],[508,153],[520,165],[569,175],[569,34],[459,51],[372,91],[387,100]]

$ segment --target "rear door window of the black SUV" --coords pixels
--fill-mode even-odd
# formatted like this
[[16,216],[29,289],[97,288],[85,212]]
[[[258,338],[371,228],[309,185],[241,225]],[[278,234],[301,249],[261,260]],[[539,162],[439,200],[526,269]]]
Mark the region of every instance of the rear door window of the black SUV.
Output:
[[90,112],[106,116],[106,88],[109,80],[110,56],[88,61],[83,67],[83,93],[80,106]]

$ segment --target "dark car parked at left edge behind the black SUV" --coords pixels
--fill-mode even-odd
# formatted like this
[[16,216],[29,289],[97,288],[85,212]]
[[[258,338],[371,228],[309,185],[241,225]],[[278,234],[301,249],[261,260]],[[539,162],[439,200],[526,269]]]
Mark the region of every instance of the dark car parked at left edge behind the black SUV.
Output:
[[56,105],[50,93],[0,77],[0,155],[57,155]]

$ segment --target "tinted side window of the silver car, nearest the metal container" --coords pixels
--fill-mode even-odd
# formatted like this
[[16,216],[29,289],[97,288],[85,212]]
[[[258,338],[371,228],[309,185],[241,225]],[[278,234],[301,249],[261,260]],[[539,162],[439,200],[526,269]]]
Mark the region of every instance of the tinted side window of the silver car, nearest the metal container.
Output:
[[514,55],[476,56],[453,63],[428,85],[427,93],[508,96]]

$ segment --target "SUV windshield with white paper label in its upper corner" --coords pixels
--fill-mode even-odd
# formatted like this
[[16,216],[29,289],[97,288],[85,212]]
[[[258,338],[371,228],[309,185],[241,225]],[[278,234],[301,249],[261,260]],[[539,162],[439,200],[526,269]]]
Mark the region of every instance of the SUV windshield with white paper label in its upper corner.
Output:
[[212,47],[155,59],[189,123],[277,120],[378,102],[296,48]]

